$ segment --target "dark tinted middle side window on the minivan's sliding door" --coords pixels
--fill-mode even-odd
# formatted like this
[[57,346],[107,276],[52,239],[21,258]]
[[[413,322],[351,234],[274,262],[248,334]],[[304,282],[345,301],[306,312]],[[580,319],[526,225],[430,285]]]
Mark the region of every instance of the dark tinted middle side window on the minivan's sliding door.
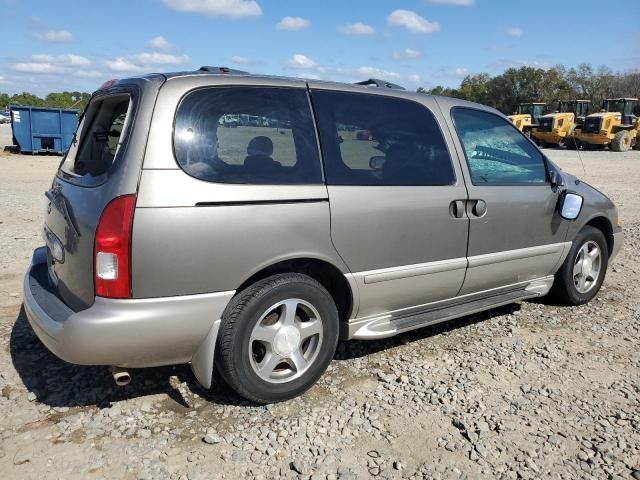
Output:
[[327,183],[451,185],[455,175],[433,114],[409,100],[314,91]]

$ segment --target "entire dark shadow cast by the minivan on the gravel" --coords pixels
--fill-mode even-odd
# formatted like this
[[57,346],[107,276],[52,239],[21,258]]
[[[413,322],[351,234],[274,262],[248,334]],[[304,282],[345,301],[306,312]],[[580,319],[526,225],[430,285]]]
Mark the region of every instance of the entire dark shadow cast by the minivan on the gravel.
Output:
[[[359,358],[436,335],[446,335],[495,316],[511,314],[519,308],[518,304],[506,305],[382,340],[340,342],[334,359]],[[10,352],[13,365],[27,390],[33,392],[40,403],[51,407],[105,408],[113,402],[156,394],[166,394],[171,398],[175,403],[169,408],[176,411],[191,408],[193,394],[221,405],[255,406],[236,395],[222,379],[215,378],[215,373],[214,386],[210,390],[204,389],[188,365],[131,369],[131,383],[117,387],[107,367],[73,365],[49,352],[31,329],[24,308],[20,309],[11,330]]]

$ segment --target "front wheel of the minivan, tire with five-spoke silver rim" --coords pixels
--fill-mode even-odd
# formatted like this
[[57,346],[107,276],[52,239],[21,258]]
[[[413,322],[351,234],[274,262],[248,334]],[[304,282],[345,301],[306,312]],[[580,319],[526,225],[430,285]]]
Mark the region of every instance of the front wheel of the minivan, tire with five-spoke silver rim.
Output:
[[[599,250],[599,267],[597,274],[594,274],[593,271],[591,272],[592,280],[587,280],[583,288],[580,289],[579,279],[576,279],[575,273],[576,270],[579,270],[580,273],[587,271],[584,263],[578,265],[581,262],[581,258],[584,258],[585,247],[592,255],[595,247],[597,247]],[[552,296],[566,305],[583,305],[589,302],[598,294],[602,286],[608,263],[609,250],[604,234],[595,227],[585,226],[576,235],[567,258],[560,270],[556,272],[555,281],[551,288]],[[593,260],[592,265],[595,266]]]

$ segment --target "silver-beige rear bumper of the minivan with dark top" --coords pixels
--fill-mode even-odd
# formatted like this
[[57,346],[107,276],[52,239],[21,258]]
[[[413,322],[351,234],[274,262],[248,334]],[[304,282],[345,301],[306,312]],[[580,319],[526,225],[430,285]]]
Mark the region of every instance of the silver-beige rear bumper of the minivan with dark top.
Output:
[[[217,333],[218,320],[233,294],[96,297],[91,307],[75,312],[49,285],[44,247],[34,251],[24,277],[24,308],[36,335],[56,356],[81,365],[151,367],[192,362],[196,354],[202,356],[203,343],[215,342],[212,333]],[[211,345],[205,345],[204,351],[213,354]]]

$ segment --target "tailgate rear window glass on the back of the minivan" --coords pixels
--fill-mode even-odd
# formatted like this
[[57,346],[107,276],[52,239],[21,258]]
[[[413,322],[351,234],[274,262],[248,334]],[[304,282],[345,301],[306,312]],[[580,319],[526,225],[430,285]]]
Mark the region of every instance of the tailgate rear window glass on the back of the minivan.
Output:
[[60,170],[71,177],[102,177],[118,154],[131,111],[129,94],[94,98],[80,121]]

